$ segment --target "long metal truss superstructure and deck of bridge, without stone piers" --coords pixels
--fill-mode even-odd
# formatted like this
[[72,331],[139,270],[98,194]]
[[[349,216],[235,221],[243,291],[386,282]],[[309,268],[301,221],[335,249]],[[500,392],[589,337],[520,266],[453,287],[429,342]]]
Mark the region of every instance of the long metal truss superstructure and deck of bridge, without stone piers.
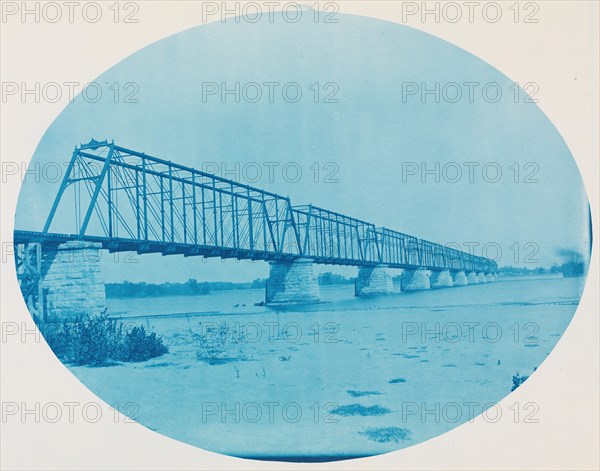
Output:
[[[74,218],[59,216],[69,211]],[[289,197],[95,140],[75,148],[43,230],[17,231],[17,239],[87,240],[111,251],[165,255],[497,271],[484,257],[313,205],[292,206]]]

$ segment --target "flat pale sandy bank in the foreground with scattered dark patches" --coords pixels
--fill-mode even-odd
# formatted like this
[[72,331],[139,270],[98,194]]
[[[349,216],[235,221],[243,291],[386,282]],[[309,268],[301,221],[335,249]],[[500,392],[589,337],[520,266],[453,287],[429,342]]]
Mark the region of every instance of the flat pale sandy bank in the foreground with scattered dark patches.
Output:
[[[164,336],[168,354],[71,370],[108,404],[134,403],[124,412],[141,424],[207,450],[273,459],[364,456],[480,415],[510,393],[515,373],[529,375],[541,364],[575,308],[563,297],[140,319]],[[243,333],[246,340],[211,364],[194,335],[207,323],[226,323],[231,338]],[[514,412],[496,407],[485,417],[492,423],[498,413],[506,419]],[[535,419],[533,409],[525,413]]]

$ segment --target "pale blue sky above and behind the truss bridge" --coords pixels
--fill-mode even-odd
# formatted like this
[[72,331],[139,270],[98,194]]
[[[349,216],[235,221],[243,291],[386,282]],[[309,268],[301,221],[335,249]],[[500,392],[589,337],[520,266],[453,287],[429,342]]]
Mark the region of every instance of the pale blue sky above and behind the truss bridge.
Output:
[[[213,163],[233,169],[227,177],[289,195],[294,205],[312,203],[465,249],[469,242],[499,246],[500,266],[563,263],[563,249],[587,253],[587,198],[577,166],[537,105],[523,103],[522,91],[514,102],[513,81],[466,51],[409,27],[338,18],[337,24],[314,23],[310,15],[295,24],[214,23],[149,45],[98,77],[103,96],[97,103],[79,96],[65,109],[33,162],[62,164],[79,143],[114,139],[198,169],[214,168]],[[118,103],[108,88],[115,82]],[[133,90],[129,82],[137,84],[138,103],[123,102]],[[255,82],[263,95],[256,103],[243,97],[236,103],[232,95],[223,102],[218,92],[203,96],[203,88],[211,86],[202,84],[209,82],[229,88]],[[272,103],[265,82],[280,84]],[[281,94],[290,82],[302,90],[296,103]],[[472,102],[467,82],[477,83]],[[436,103],[427,95],[423,103],[420,90],[435,89],[436,83],[440,90],[446,86],[448,100],[442,96]],[[449,100],[456,87],[449,83],[463,93],[455,103]],[[489,83],[498,85],[488,97],[496,88],[502,91],[496,103],[482,95]],[[415,86],[418,91],[408,94]],[[250,100],[255,91],[246,88]],[[324,103],[331,93],[338,102]],[[436,183],[425,175],[423,182],[420,166],[435,169],[436,163],[448,179],[455,178],[457,167],[462,177]],[[482,173],[486,164],[488,181]],[[248,181],[257,167],[262,176]],[[291,183],[297,168],[302,176]],[[502,176],[492,183],[498,168]],[[331,173],[336,181],[324,182]],[[537,182],[526,183],[528,176]],[[41,230],[58,186],[26,181],[16,227]],[[53,231],[72,232],[73,220],[60,216]],[[533,252],[539,262],[523,263]],[[494,250],[488,254],[495,256]],[[121,254],[115,263],[113,257],[103,257],[107,281],[246,281],[268,272],[264,262],[144,255],[124,263]],[[340,272],[354,275],[355,269]]]

